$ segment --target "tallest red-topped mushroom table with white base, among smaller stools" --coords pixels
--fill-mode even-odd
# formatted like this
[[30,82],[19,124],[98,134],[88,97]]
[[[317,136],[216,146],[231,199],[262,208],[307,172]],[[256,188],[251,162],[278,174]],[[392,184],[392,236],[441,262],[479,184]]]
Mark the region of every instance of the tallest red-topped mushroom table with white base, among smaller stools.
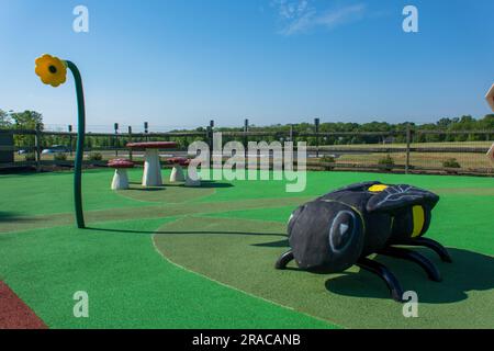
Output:
[[128,148],[145,150],[144,155],[144,173],[143,186],[159,186],[161,181],[161,165],[159,163],[159,149],[172,149],[177,147],[177,143],[172,141],[147,141],[147,143],[130,143]]

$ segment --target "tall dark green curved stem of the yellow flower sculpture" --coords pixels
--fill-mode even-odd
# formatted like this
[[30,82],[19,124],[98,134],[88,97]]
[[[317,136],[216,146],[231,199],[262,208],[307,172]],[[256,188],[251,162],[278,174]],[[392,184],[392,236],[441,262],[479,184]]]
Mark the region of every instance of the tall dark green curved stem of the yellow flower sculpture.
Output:
[[76,148],[76,161],[74,165],[74,201],[76,204],[76,220],[77,227],[86,228],[85,215],[82,212],[82,158],[85,154],[85,134],[86,134],[86,109],[85,109],[85,92],[82,90],[82,79],[80,77],[77,66],[66,60],[67,68],[74,75],[76,82],[77,94],[77,112],[78,112],[78,127],[77,127],[77,148]]

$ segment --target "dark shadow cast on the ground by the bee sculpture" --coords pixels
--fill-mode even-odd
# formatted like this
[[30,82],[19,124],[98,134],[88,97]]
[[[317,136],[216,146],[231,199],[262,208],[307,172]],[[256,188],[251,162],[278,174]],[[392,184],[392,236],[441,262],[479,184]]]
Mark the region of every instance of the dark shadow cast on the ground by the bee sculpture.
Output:
[[[377,257],[398,279],[404,291],[415,291],[422,303],[447,304],[467,299],[469,292],[494,288],[494,258],[461,249],[448,249],[453,262],[445,263],[426,249],[416,250],[428,256],[442,274],[442,282],[433,282],[419,267],[412,262],[388,257]],[[377,275],[366,271],[346,272],[326,281],[326,288],[335,294],[390,298],[390,294]]]

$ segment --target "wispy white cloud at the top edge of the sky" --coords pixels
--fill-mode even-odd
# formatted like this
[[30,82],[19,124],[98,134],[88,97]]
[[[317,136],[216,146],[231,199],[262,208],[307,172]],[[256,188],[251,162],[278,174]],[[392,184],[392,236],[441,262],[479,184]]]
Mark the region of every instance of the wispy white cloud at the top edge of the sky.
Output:
[[277,11],[283,35],[306,33],[315,27],[333,29],[359,21],[366,14],[363,3],[321,11],[310,0],[272,0],[271,7]]

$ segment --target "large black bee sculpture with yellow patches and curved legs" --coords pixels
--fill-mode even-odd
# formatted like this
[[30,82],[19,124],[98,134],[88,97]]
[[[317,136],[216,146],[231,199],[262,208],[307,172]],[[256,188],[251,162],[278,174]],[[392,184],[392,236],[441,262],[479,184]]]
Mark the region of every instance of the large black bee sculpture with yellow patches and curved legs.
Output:
[[352,184],[296,208],[288,225],[291,249],[278,259],[277,269],[291,260],[307,271],[336,273],[353,264],[378,274],[397,302],[403,290],[383,264],[368,258],[372,253],[406,259],[419,264],[430,280],[441,275],[423,254],[396,246],[424,246],[451,262],[437,241],[423,238],[430,224],[431,210],[439,196],[412,185],[380,182]]

